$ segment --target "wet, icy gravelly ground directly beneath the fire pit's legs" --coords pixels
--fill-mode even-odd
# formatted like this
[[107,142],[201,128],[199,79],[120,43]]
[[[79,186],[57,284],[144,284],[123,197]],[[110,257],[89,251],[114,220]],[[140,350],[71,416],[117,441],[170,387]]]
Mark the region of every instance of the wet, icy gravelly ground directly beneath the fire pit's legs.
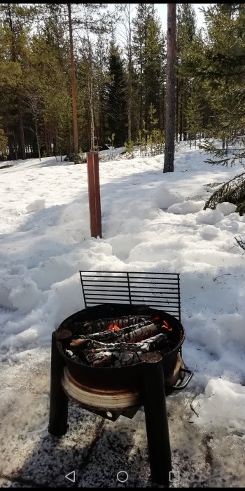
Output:
[[[1,365],[0,486],[161,487],[151,482],[142,411],[110,422],[71,402],[66,435],[48,433],[50,350],[40,356],[39,349],[36,363],[35,354]],[[244,487],[244,433],[197,425],[196,394],[194,378],[167,398],[173,470],[180,473],[169,487]],[[72,471],[75,483],[65,478]]]

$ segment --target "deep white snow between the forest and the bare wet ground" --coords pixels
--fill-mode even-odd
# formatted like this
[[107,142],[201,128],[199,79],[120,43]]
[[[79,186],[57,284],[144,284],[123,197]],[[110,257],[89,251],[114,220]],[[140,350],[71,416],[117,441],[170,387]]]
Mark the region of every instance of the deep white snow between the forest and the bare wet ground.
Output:
[[[245,255],[235,235],[244,237],[245,217],[232,203],[203,210],[214,190],[207,183],[241,170],[211,167],[186,144],[167,174],[163,156],[108,155],[99,166],[103,238],[90,237],[85,164],[45,158],[0,169],[2,366],[18,372],[28,360],[31,372],[49,359],[52,331],[84,308],[80,269],[178,272],[183,358],[195,372],[199,414],[192,429],[242,429]],[[7,387],[6,406],[9,397]]]

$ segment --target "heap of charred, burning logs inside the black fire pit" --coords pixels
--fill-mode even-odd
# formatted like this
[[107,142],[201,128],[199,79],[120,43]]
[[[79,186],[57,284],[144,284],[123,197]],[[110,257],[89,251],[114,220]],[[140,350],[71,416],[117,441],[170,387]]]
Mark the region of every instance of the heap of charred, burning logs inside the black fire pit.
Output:
[[132,365],[149,351],[169,352],[172,331],[162,316],[127,316],[82,323],[81,334],[70,343],[73,360],[94,367]]

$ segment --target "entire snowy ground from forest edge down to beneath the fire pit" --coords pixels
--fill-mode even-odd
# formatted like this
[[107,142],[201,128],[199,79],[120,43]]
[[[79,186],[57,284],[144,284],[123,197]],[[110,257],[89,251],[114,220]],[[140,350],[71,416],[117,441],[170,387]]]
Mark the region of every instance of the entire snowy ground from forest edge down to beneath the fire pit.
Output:
[[[109,449],[114,445],[122,462],[129,433],[134,444],[123,462],[125,466],[130,462],[134,478],[124,486],[148,485],[141,416],[126,426],[106,422],[102,428],[102,419],[85,411],[82,424],[76,405],[71,405],[73,440],[64,436],[54,443],[46,431],[51,332],[84,308],[80,269],[181,274],[183,358],[195,376],[187,391],[168,398],[173,459],[182,466],[180,485],[245,485],[245,255],[235,241],[235,236],[245,238],[245,216],[235,213],[230,203],[203,210],[214,191],[208,184],[224,182],[242,170],[239,165],[211,167],[204,160],[198,149],[182,144],[174,173],[162,173],[163,156],[102,161],[103,238],[97,239],[90,237],[85,164],[47,158],[8,162],[4,164],[10,167],[0,168],[3,485],[31,482],[39,445],[45,479],[36,477],[36,485],[57,483],[55,471],[50,473],[43,464],[43,458],[49,458],[46,454],[54,458],[57,450],[64,457],[59,463],[64,473],[80,465],[79,455],[85,459],[80,486],[120,486],[109,471],[106,476],[108,466],[98,455],[106,445]],[[78,434],[85,438],[79,455]],[[144,454],[140,462],[135,448]],[[144,468],[140,476],[139,466]]]

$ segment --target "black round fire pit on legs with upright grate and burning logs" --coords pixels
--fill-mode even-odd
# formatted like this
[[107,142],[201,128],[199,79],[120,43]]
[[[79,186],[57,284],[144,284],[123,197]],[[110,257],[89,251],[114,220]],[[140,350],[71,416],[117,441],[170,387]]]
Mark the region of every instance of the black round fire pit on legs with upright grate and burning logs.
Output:
[[[137,289],[145,288],[134,299],[137,304],[132,304],[132,292],[136,294],[130,274],[125,274],[130,303],[125,303],[125,290],[124,303],[109,302],[116,297],[112,285],[118,288],[119,283],[118,296],[122,295],[123,274],[80,271],[80,275],[86,308],[52,333],[49,431],[66,433],[69,398],[113,421],[120,415],[133,417],[143,405],[151,477],[155,483],[168,483],[172,464],[165,394],[185,388],[193,374],[181,358],[185,331],[180,320],[139,302],[147,297],[155,305],[170,297],[168,308],[173,311],[177,306],[180,316],[179,275],[177,283],[174,275],[167,283],[162,282],[163,274],[132,274]],[[151,296],[156,288],[164,288],[162,300],[159,294]],[[178,293],[175,299],[173,292]],[[99,296],[106,302],[99,303]],[[90,298],[92,305],[87,307]]]

